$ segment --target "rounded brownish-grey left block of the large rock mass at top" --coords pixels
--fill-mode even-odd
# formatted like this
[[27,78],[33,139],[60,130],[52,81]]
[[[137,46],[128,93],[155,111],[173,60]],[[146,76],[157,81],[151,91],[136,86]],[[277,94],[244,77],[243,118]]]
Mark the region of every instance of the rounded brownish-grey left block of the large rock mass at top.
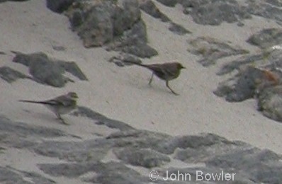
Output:
[[84,47],[97,47],[113,40],[111,12],[115,12],[115,8],[110,1],[79,1],[67,12],[72,29],[83,40]]

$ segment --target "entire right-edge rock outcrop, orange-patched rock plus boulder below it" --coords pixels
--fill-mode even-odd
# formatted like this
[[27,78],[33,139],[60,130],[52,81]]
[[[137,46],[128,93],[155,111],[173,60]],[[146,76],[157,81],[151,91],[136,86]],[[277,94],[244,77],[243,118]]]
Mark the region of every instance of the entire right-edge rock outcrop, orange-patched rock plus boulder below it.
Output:
[[[226,64],[219,74],[227,74],[235,69],[239,73],[220,83],[214,93],[231,102],[256,98],[261,113],[282,122],[281,57],[281,50],[274,47],[261,54],[249,55]],[[250,66],[266,61],[269,64],[261,68]]]

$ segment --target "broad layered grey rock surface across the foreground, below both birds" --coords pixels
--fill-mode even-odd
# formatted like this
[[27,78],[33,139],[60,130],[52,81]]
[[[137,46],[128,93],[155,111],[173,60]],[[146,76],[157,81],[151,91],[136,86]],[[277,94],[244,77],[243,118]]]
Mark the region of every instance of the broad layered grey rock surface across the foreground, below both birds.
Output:
[[[36,166],[45,173],[21,171],[20,168],[0,167],[2,183],[56,183],[58,177],[72,178],[88,183],[152,183],[145,173],[157,170],[159,177],[167,173],[188,173],[188,183],[196,182],[196,171],[205,173],[236,173],[232,183],[279,183],[282,180],[281,155],[257,149],[244,142],[232,142],[216,134],[198,134],[173,137],[168,134],[135,130],[125,123],[113,127],[110,120],[89,108],[79,107],[77,115],[105,122],[118,129],[106,137],[67,139],[62,130],[35,127],[23,122],[12,122],[0,117],[0,144],[9,148],[25,149],[34,156],[60,159],[62,162],[40,161]],[[115,121],[115,122],[114,122]],[[107,122],[107,123],[106,123]],[[123,125],[122,125],[123,124]],[[126,128],[125,128],[126,127]],[[1,149],[5,154],[6,149]],[[116,161],[107,160],[112,153]],[[21,159],[21,158],[20,158]],[[106,159],[106,160],[105,160]],[[182,162],[179,168],[174,162]],[[167,165],[172,164],[172,165]],[[142,167],[139,173],[135,167]],[[86,175],[86,173],[95,173]],[[47,178],[46,178],[47,177]],[[27,180],[28,178],[28,180]],[[52,179],[51,179],[52,178]],[[206,183],[207,180],[197,181]],[[153,183],[187,183],[186,181],[157,180]],[[209,181],[208,183],[218,183]]]

